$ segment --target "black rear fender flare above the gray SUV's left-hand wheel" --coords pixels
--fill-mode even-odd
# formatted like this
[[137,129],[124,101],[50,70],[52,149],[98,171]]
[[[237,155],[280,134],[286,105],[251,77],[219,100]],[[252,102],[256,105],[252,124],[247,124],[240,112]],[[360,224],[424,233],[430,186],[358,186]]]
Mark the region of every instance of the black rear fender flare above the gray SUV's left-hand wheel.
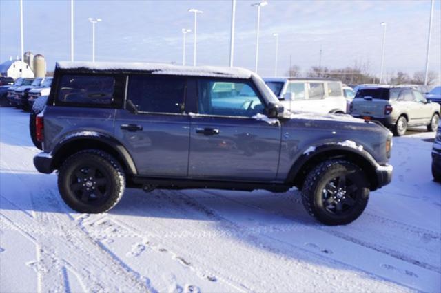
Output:
[[125,149],[125,146],[123,146],[121,142],[119,142],[112,136],[105,133],[100,133],[98,131],[77,131],[65,135],[65,138],[60,140],[50,152],[53,158],[52,165],[59,164],[59,160],[61,159],[60,155],[64,153],[66,148],[69,148],[69,146],[72,146],[73,144],[80,142],[81,140],[92,140],[95,142],[99,142],[100,144],[105,144],[109,149],[111,149],[114,153],[118,155],[128,173],[130,173],[131,175],[138,174],[134,160],[127,149]]

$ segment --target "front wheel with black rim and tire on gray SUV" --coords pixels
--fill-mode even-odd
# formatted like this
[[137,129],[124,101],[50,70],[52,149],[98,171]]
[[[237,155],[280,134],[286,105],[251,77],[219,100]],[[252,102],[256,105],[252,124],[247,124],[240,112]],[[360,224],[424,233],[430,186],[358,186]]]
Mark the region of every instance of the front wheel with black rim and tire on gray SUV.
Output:
[[368,200],[365,173],[346,160],[318,164],[302,188],[302,202],[308,213],[327,225],[351,223],[365,210]]

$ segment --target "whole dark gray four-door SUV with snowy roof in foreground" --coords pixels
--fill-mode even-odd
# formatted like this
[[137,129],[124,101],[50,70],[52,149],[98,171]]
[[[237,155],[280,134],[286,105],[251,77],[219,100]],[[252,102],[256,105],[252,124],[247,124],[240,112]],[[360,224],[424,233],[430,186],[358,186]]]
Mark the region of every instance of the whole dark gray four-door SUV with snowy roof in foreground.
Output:
[[245,69],[57,63],[36,119],[41,173],[81,213],[110,210],[125,187],[302,191],[322,223],[347,224],[391,181],[392,135],[344,115],[284,111]]

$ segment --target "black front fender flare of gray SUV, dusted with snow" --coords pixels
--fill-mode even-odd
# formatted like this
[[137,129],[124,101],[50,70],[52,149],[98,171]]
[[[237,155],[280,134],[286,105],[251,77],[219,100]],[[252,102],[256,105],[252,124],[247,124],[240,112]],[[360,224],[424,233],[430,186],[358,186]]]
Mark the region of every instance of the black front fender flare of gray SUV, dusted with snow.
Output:
[[320,144],[314,146],[314,151],[302,153],[291,166],[285,184],[291,184],[292,186],[292,183],[297,181],[298,175],[300,175],[300,177],[304,175],[302,174],[302,170],[305,170],[305,167],[307,167],[309,163],[316,162],[318,158],[322,158],[323,155],[329,155],[329,157],[327,157],[329,159],[349,155],[353,157],[353,159],[358,160],[358,162],[354,163],[358,164],[363,169],[367,168],[365,172],[368,175],[368,180],[371,182],[371,188],[372,190],[376,189],[376,186],[378,185],[376,169],[379,165],[373,156],[364,149],[360,150],[359,148],[345,146],[338,142]]

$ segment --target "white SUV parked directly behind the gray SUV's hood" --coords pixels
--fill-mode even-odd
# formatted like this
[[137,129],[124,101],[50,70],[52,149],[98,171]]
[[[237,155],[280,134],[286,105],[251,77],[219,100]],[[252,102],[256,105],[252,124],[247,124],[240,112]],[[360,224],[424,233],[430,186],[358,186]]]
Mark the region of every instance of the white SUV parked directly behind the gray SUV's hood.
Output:
[[342,83],[333,78],[264,78],[285,109],[346,113]]

